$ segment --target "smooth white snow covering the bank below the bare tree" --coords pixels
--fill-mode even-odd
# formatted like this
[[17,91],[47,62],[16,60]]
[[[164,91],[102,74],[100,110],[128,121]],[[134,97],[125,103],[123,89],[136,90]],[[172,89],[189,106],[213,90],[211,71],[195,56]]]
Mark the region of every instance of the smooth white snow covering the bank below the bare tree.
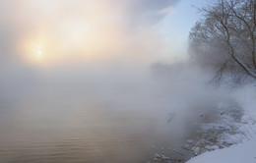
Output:
[[[209,146],[214,150],[191,158],[186,163],[256,163],[256,86],[243,86],[233,92],[232,96],[245,111],[243,122],[246,124],[240,130],[243,130],[248,138],[223,149],[218,149],[217,146]],[[223,107],[224,104],[219,106],[219,108]]]

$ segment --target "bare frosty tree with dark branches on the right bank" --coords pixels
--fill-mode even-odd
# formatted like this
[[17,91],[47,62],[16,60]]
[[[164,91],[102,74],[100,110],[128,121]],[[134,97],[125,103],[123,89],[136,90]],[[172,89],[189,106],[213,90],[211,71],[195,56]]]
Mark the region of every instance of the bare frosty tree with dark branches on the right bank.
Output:
[[215,0],[190,32],[191,58],[233,77],[256,79],[256,1]]

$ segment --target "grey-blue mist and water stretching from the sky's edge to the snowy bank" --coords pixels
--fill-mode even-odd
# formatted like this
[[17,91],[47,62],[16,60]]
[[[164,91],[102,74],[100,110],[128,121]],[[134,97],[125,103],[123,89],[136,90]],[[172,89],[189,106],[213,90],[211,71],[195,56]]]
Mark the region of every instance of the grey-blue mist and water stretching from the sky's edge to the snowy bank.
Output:
[[1,72],[0,161],[146,162],[152,145],[173,155],[195,136],[199,114],[225,100],[199,74],[136,66]]

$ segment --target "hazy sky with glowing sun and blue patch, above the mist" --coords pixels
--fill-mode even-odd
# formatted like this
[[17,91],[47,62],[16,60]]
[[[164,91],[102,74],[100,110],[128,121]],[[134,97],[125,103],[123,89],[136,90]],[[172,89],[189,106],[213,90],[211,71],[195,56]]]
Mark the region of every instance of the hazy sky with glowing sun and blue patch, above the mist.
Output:
[[[1,62],[150,64],[185,58],[206,0],[0,0]],[[194,7],[193,7],[194,6]]]

